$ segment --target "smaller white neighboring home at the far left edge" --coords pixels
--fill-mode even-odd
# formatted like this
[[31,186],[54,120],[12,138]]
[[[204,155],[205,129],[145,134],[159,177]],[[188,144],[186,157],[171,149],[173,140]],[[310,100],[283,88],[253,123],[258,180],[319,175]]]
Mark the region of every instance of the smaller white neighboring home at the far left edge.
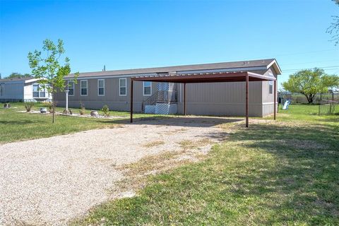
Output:
[[51,95],[39,89],[37,78],[0,79],[0,102],[49,101]]

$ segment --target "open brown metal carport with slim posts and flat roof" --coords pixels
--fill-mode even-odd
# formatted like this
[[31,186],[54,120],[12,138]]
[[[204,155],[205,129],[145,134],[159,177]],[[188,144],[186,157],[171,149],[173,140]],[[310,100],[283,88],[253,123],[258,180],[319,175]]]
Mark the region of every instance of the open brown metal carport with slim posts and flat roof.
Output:
[[186,83],[232,83],[245,82],[245,116],[246,127],[249,127],[249,82],[251,81],[274,81],[274,120],[276,114],[277,81],[274,77],[263,76],[249,71],[237,72],[208,72],[208,73],[157,73],[153,76],[131,77],[131,123],[133,122],[133,82],[150,81],[160,83],[183,83],[184,84],[184,115],[186,115]]

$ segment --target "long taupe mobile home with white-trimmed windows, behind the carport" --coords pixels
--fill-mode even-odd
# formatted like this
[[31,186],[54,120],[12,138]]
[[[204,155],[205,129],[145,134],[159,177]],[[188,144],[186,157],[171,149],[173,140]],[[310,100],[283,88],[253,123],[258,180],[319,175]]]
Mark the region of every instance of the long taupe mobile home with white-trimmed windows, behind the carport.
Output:
[[[66,76],[69,85],[69,106],[129,111],[130,78],[135,76],[168,76],[179,73],[198,75],[249,71],[277,78],[281,74],[275,59],[236,61],[216,64],[167,66],[150,69],[128,69],[80,73],[77,83],[73,74]],[[135,82],[133,110],[155,114],[183,114],[184,85],[181,83]],[[194,83],[186,84],[187,114],[244,116],[245,83]],[[273,81],[249,83],[249,114],[264,117],[274,111]],[[65,93],[56,95],[57,105],[66,105]]]

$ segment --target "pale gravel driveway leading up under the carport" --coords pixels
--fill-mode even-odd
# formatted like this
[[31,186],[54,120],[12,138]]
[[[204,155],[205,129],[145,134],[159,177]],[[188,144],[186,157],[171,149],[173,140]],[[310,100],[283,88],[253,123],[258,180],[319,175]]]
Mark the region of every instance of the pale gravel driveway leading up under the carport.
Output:
[[[113,129],[0,145],[0,225],[65,225],[112,196],[107,189],[123,177],[114,166],[179,150],[183,140],[218,141],[223,135],[215,125],[225,120],[139,120]],[[146,148],[152,141],[163,143]]]

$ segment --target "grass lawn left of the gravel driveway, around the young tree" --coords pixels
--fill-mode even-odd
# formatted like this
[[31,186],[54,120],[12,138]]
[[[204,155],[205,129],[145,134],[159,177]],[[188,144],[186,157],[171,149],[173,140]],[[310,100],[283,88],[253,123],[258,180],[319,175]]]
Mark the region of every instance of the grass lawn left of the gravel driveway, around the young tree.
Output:
[[[36,103],[32,109],[39,110],[44,107],[43,103]],[[25,141],[34,138],[45,138],[49,136],[68,134],[88,129],[112,128],[123,119],[97,119],[85,117],[56,116],[56,122],[52,124],[52,114],[31,114],[19,111],[25,110],[24,104],[11,103],[10,109],[0,108],[0,143],[13,141]],[[64,108],[57,107],[57,112],[63,112]],[[73,113],[79,113],[79,109],[72,109]],[[90,110],[85,110],[89,114]],[[98,111],[99,114],[103,114]],[[128,112],[109,112],[111,116],[126,117]],[[134,114],[135,118],[150,117],[147,114]],[[122,121],[123,122],[123,121]]]

